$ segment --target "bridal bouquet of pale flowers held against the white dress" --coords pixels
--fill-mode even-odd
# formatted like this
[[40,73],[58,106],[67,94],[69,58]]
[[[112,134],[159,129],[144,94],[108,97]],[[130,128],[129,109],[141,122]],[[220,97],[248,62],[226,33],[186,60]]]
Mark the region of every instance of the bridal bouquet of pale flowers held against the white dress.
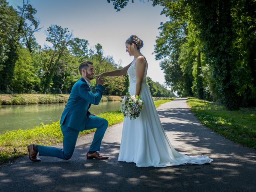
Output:
[[124,96],[121,104],[121,112],[124,117],[129,117],[130,119],[136,119],[140,116],[140,110],[142,109],[143,102],[140,96],[131,95],[129,92]]

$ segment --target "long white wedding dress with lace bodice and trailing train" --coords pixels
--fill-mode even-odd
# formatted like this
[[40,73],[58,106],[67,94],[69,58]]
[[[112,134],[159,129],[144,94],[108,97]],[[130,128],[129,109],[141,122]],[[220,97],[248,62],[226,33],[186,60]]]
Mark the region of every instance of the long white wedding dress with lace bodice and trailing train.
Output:
[[[128,69],[129,92],[135,95],[136,59]],[[147,67],[140,90],[144,102],[140,116],[135,120],[124,118],[118,161],[134,162],[138,167],[166,167],[183,164],[205,164],[208,156],[188,156],[177,152],[168,140],[146,84]]]

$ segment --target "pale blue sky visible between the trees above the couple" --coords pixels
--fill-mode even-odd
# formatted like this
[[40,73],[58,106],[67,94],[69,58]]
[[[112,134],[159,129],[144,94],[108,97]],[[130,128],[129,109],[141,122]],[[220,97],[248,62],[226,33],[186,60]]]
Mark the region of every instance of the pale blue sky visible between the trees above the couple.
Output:
[[[17,9],[22,0],[8,0],[9,5]],[[160,22],[168,18],[160,15],[162,6],[152,6],[152,2],[134,0],[120,12],[106,0],[30,0],[37,10],[36,18],[40,20],[40,32],[35,33],[37,42],[44,46],[45,31],[48,26],[56,24],[72,31],[74,37],[89,41],[89,48],[100,43],[104,56],[113,56],[118,64],[128,65],[133,60],[126,52],[125,41],[135,34],[144,42],[141,53],[148,61],[148,74],[153,81],[164,84],[164,73],[154,59],[154,44],[159,35]],[[97,72],[96,72],[97,73]],[[168,88],[169,89],[169,88]]]

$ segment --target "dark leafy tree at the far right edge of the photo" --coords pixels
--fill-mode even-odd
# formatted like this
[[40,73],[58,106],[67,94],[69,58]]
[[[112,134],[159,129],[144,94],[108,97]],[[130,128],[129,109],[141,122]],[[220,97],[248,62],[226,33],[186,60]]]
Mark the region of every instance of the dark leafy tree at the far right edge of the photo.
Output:
[[256,1],[236,1],[232,16],[238,60],[238,95],[244,106],[256,106]]

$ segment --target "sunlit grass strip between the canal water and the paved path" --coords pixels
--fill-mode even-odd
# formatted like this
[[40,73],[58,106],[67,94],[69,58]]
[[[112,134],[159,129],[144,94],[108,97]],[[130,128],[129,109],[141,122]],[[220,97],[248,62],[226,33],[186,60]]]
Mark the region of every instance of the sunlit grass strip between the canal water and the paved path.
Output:
[[[157,100],[155,106],[169,102],[174,98]],[[109,126],[117,124],[124,120],[124,117],[120,111],[112,111],[98,114],[97,116],[108,120]],[[0,163],[8,162],[27,154],[26,146],[31,143],[42,144],[51,146],[56,143],[60,143],[63,140],[62,132],[60,130],[60,122],[54,122],[52,124],[44,125],[40,127],[36,126],[33,129],[27,130],[12,130],[0,134]],[[87,134],[95,129],[86,130],[80,132],[81,134]]]

